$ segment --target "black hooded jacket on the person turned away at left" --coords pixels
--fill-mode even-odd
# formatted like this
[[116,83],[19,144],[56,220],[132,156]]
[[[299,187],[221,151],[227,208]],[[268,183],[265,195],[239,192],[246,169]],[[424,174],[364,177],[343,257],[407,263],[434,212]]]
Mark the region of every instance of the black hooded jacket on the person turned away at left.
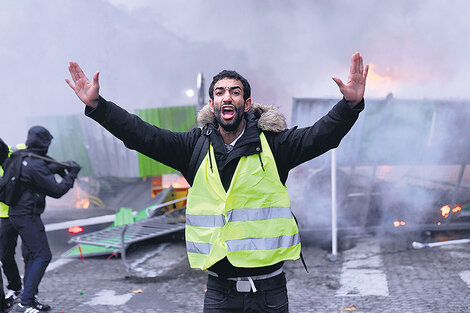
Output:
[[[32,127],[26,140],[27,148],[21,152],[47,156],[47,150],[52,140],[52,135],[41,126]],[[50,158],[49,156],[47,156]],[[58,183],[54,174],[62,176]],[[26,156],[22,162],[20,188],[21,196],[15,206],[10,207],[9,215],[42,214],[46,206],[46,196],[53,198],[62,197],[73,187],[74,177],[65,174],[63,167],[48,164],[42,159]]]

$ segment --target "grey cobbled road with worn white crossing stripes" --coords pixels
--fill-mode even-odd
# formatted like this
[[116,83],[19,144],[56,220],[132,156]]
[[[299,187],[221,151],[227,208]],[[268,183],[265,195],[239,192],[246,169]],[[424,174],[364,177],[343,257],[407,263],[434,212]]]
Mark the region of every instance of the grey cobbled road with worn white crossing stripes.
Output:
[[[404,236],[363,236],[336,262],[314,245],[303,253],[309,273],[300,261],[285,266],[290,312],[470,312],[469,244],[415,250]],[[181,240],[146,242],[128,254],[131,273],[116,258],[56,256],[40,298],[52,312],[202,311],[206,274],[189,269]]]

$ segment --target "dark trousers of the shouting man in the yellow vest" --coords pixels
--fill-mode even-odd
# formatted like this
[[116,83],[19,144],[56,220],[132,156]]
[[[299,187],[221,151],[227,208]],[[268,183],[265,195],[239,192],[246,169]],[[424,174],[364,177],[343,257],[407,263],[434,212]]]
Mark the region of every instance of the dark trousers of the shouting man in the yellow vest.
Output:
[[236,282],[209,275],[204,297],[204,313],[287,313],[286,277],[277,276],[255,280],[256,292],[238,292]]

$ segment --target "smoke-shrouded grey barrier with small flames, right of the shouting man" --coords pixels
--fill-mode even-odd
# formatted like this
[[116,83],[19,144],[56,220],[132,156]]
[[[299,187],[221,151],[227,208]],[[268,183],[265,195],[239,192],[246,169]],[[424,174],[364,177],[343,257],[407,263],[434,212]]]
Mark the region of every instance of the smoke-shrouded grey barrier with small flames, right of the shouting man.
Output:
[[[385,70],[377,79],[393,80],[393,75]],[[291,124],[309,125],[332,101],[294,98]],[[465,119],[470,103],[390,94],[367,99],[367,105],[336,149],[339,240],[341,233],[469,230],[470,142],[459,134],[470,132]],[[326,154],[289,178],[292,208],[304,234],[323,229],[324,237],[331,230],[330,166]]]

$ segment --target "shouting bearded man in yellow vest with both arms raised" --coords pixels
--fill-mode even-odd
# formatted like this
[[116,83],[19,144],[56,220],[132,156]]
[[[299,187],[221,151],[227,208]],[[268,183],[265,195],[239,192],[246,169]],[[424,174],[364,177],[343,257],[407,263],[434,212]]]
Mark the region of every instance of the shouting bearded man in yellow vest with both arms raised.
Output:
[[204,312],[288,312],[283,264],[300,257],[297,223],[285,188],[288,172],[339,145],[364,108],[368,66],[356,53],[348,82],[333,77],[343,99],[310,127],[286,128],[274,107],[252,103],[235,71],[214,76],[202,130],[150,125],[99,94],[76,62],[66,79],[85,114],[126,147],[180,171],[191,189],[186,248],[192,268],[207,270]]

